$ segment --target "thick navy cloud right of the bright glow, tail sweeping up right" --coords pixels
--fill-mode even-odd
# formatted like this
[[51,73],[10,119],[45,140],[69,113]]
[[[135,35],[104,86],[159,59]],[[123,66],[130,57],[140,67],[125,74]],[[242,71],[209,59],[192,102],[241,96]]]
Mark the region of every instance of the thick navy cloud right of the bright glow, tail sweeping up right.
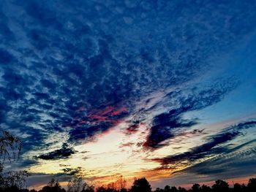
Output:
[[216,104],[226,93],[233,90],[234,87],[235,84],[227,83],[227,85],[216,84],[203,91],[197,91],[195,89],[195,91],[185,96],[182,96],[182,91],[168,93],[166,96],[168,99],[176,99],[176,107],[172,107],[173,109],[169,112],[154,117],[151,133],[144,146],[151,149],[162,147],[164,145],[162,142],[175,137],[173,129],[177,130],[177,128],[195,126],[197,120],[184,120],[182,115],[189,111],[201,110],[212,104]]

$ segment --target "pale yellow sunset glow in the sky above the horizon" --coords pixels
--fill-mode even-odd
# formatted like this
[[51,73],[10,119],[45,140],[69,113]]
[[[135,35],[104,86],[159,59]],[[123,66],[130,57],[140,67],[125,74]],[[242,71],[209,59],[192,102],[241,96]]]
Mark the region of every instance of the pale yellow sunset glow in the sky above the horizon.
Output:
[[[64,164],[69,165],[67,167],[72,169],[81,167],[81,172],[85,177],[94,177],[97,183],[101,184],[115,181],[116,175],[121,174],[127,180],[133,180],[133,177],[138,177],[138,173],[143,172],[143,170],[151,170],[159,166],[157,162],[146,161],[148,152],[143,152],[141,146],[123,147],[127,142],[138,142],[138,139],[143,139],[140,133],[130,137],[120,131],[119,128],[113,128],[112,131],[99,135],[97,140],[76,145],[74,150],[77,152],[69,158],[40,160],[40,164],[31,166],[30,171],[56,174],[63,172],[64,167],[60,165]],[[145,177],[146,175],[142,176]],[[105,179],[103,179],[104,177]]]

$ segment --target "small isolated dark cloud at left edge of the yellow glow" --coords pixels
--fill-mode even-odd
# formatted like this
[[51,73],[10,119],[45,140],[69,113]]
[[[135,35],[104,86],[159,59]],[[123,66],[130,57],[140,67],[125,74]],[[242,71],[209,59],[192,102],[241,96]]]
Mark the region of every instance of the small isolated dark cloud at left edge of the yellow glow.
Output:
[[75,150],[69,148],[67,143],[64,143],[59,150],[53,150],[50,153],[38,155],[37,158],[41,158],[43,160],[55,160],[59,158],[68,158],[70,155],[74,154]]

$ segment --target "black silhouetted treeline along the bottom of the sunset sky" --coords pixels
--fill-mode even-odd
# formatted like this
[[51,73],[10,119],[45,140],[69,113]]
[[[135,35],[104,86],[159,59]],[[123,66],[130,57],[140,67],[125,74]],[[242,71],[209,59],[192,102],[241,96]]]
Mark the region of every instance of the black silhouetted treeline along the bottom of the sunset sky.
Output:
[[165,188],[157,188],[152,191],[151,185],[145,177],[137,179],[132,184],[131,188],[115,188],[114,185],[107,187],[94,188],[94,186],[87,185],[83,182],[82,178],[75,177],[69,181],[67,190],[61,188],[61,185],[56,180],[51,180],[48,185],[45,185],[41,190],[34,189],[20,189],[16,185],[5,186],[0,188],[0,192],[255,192],[256,191],[256,178],[249,179],[247,185],[234,184],[230,188],[229,184],[224,180],[217,180],[211,187],[207,185],[199,185],[195,183],[192,188],[186,189],[175,186],[170,187],[166,185]]

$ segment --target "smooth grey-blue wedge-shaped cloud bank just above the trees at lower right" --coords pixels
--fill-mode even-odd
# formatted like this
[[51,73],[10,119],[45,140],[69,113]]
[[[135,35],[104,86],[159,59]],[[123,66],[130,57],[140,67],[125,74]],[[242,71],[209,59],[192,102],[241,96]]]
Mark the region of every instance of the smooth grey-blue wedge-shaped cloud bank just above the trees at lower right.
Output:
[[[200,178],[198,175],[203,175],[203,182],[255,175],[255,142],[255,139],[249,142],[244,142],[236,147],[231,147],[226,150],[225,153],[217,154],[214,158],[206,159],[198,164],[193,164],[177,174],[179,180],[183,180],[184,173],[186,173],[186,175],[197,175],[190,179],[187,178],[187,180],[195,180],[193,178],[198,179]],[[195,183],[195,181],[191,181],[191,183]]]

